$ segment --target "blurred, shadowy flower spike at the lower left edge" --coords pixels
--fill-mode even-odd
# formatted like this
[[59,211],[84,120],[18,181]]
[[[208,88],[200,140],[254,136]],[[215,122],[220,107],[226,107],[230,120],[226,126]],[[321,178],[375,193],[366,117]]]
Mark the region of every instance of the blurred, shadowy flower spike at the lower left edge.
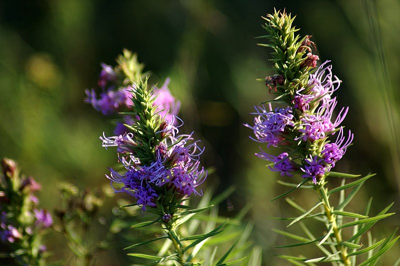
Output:
[[50,212],[38,208],[34,193],[41,188],[33,177],[20,176],[15,161],[3,158],[0,176],[1,251],[15,252],[16,262],[37,265],[46,250],[41,242],[53,223]]

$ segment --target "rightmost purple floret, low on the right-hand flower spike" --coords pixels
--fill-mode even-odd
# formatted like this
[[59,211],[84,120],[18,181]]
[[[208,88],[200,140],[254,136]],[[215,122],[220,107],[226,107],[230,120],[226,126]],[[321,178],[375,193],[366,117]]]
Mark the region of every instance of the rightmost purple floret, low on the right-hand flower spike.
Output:
[[334,167],[335,162],[341,159],[346,152],[346,148],[351,144],[353,137],[354,136],[351,131],[348,130],[348,137],[347,140],[345,140],[345,136],[343,135],[343,127],[340,127],[336,141],[334,143],[326,143],[323,146],[321,154],[324,162],[326,164],[331,164],[331,166]]

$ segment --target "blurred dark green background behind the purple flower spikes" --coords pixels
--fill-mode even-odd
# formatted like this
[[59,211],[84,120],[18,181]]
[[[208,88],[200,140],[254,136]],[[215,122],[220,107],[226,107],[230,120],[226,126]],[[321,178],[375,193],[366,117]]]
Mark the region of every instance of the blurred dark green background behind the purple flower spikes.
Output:
[[[343,81],[337,97],[349,106],[343,124],[354,144],[336,171],[377,175],[368,180],[350,210],[362,211],[373,196],[372,213],[394,201],[398,212],[373,230],[383,238],[400,225],[400,2],[398,0],[1,0],[0,1],[0,156],[16,159],[26,174],[42,183],[40,201],[48,209],[60,200],[56,183],[80,188],[107,183],[106,167],[115,152],[101,147],[98,136],[112,125],[83,102],[84,89],[96,87],[100,62],[114,64],[122,48],[137,52],[145,70],[181,100],[186,132],[206,146],[204,164],[216,171],[208,185],[216,192],[237,187],[227,199],[234,215],[246,204],[254,223],[254,244],[262,247],[265,265],[284,265],[273,256],[287,250],[270,229],[284,222],[268,216],[293,216],[284,200],[269,200],[284,187],[278,175],[253,153],[258,144],[248,135],[248,113],[270,98],[256,81],[270,73],[268,50],[257,46],[264,34],[262,15],[286,8],[296,15],[301,35],[313,35],[317,53],[331,60]],[[332,182],[335,182],[332,180]],[[305,206],[315,198],[292,197]],[[352,208],[352,209],[351,209]],[[50,235],[55,256],[68,256],[61,237]],[[57,248],[58,247],[58,248]],[[399,245],[382,260],[391,265]],[[118,264],[121,255],[109,257]],[[121,262],[122,263],[122,262]]]

